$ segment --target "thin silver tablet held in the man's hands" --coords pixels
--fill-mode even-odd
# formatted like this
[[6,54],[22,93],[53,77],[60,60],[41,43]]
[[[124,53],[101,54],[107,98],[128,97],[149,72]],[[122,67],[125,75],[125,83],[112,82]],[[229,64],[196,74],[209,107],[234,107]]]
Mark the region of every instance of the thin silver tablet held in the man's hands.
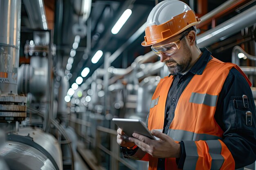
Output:
[[119,128],[121,128],[128,137],[132,137],[132,133],[138,133],[156,139],[148,130],[146,125],[139,119],[112,119]]

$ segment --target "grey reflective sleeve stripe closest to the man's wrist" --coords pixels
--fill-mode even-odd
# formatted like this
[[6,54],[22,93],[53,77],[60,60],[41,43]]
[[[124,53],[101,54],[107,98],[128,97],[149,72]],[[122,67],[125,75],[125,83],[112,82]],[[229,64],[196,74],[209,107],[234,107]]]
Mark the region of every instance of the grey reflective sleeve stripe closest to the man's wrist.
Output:
[[186,159],[184,161],[184,170],[195,170],[198,161],[198,148],[195,141],[183,141],[186,150]]

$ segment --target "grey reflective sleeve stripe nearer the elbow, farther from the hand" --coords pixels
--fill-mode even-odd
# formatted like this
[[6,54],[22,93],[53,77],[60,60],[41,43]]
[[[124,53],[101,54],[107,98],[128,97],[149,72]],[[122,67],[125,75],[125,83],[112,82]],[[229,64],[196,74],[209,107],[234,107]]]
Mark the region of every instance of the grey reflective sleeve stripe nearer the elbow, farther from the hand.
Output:
[[219,170],[224,162],[221,155],[221,144],[218,140],[206,141],[209,147],[209,154],[211,155],[211,170]]

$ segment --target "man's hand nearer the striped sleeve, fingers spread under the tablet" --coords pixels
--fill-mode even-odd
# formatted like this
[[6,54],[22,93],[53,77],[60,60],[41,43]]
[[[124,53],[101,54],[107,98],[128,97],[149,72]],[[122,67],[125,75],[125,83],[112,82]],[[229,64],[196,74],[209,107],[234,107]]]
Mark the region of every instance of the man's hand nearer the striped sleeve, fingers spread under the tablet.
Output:
[[159,140],[153,140],[137,133],[133,133],[133,137],[129,137],[129,140],[153,157],[180,157],[180,144],[177,144],[171,137],[157,130],[151,130],[151,133],[158,137]]

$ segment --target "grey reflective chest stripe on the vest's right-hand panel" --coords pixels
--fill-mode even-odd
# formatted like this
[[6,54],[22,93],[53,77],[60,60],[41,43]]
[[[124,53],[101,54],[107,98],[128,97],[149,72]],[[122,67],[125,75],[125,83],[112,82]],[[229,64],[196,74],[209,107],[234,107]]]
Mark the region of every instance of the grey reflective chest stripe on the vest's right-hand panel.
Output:
[[217,99],[218,95],[192,93],[189,102],[196,104],[205,104],[207,106],[216,106]]

